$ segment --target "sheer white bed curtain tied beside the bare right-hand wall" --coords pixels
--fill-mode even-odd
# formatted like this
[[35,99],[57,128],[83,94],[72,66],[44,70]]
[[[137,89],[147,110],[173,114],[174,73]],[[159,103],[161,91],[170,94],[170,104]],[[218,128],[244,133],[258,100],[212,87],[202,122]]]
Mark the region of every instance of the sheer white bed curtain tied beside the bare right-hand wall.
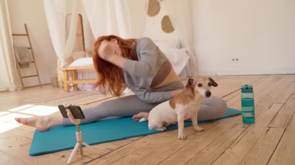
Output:
[[[191,51],[188,76],[197,76],[197,58],[194,51],[193,0],[163,0],[170,21],[184,47]],[[189,67],[188,67],[189,66]]]

